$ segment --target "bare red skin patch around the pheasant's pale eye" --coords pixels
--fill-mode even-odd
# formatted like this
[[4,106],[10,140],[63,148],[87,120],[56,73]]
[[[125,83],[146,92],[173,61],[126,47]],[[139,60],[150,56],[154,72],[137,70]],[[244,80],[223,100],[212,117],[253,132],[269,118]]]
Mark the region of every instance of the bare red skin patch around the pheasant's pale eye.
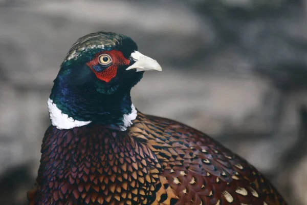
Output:
[[[104,53],[108,54],[112,58],[112,63],[108,65],[108,67],[105,68],[104,70],[98,72],[93,67],[101,66],[99,64],[99,56]],[[129,65],[129,63],[130,61],[124,57],[121,51],[112,50],[112,51],[103,51],[103,52],[97,53],[91,61],[86,63],[86,65],[92,69],[92,71],[95,73],[97,78],[108,83],[116,76],[117,69],[119,66]]]

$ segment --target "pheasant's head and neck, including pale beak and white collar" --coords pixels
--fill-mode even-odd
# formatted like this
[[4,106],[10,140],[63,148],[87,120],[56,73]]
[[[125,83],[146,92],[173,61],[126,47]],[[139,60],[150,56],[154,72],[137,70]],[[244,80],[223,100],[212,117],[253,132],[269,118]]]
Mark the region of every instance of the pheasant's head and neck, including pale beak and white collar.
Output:
[[136,117],[130,90],[144,71],[162,71],[122,34],[85,35],[71,47],[48,100],[52,124],[70,129],[91,122],[125,130]]

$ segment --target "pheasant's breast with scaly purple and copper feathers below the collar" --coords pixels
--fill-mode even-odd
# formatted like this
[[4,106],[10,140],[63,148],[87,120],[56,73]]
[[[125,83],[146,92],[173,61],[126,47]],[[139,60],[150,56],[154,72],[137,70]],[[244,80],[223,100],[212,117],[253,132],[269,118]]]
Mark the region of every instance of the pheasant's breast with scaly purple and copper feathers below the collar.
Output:
[[160,172],[157,156],[126,132],[101,126],[60,131],[52,126],[43,139],[37,178],[42,186],[37,198],[44,200],[35,203],[151,203]]

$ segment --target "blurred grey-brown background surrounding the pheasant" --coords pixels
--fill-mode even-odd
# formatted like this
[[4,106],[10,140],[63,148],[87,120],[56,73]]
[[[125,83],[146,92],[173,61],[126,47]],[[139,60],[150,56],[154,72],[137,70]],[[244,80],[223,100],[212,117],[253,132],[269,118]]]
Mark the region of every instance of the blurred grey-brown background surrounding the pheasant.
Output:
[[134,88],[139,110],[206,132],[307,204],[307,0],[0,0],[0,204],[26,204],[53,79],[95,31],[162,65]]

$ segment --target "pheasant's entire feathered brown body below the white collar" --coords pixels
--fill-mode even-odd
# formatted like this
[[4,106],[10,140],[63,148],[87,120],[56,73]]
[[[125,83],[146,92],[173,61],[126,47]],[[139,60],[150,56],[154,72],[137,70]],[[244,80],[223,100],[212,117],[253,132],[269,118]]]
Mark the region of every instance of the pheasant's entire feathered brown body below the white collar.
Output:
[[126,131],[51,126],[29,204],[285,205],[246,160],[205,134],[138,112]]

